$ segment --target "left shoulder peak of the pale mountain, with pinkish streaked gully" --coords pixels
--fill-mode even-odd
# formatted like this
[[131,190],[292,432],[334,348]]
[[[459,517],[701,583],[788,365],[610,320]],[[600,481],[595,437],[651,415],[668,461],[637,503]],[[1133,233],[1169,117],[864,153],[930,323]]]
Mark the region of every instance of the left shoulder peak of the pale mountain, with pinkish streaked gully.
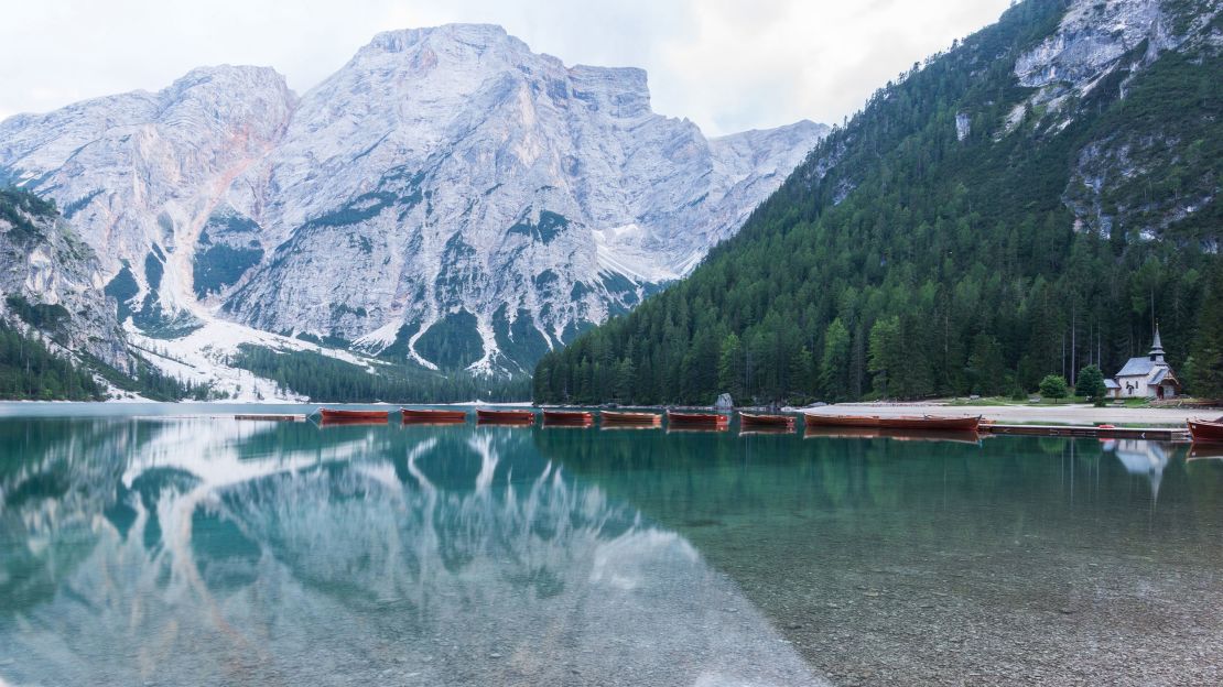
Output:
[[192,257],[218,198],[278,142],[296,99],[270,68],[193,70],[158,93],[0,123],[0,167],[55,199],[130,309],[190,319]]

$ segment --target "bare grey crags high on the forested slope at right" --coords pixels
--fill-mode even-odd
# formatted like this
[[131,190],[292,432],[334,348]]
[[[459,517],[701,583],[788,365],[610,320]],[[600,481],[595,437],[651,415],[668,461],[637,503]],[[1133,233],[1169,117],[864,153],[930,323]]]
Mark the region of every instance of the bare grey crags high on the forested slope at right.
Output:
[[[1010,130],[1026,120],[1060,132],[1075,121],[1090,120],[1103,104],[1130,98],[1135,77],[1148,68],[1162,68],[1159,81],[1167,87],[1179,86],[1179,79],[1196,70],[1194,65],[1217,64],[1223,45],[1217,26],[1221,9],[1218,0],[1073,2],[1057,32],[1015,64],[1019,83],[1033,90],[1015,108]],[[1159,62],[1168,53],[1188,62],[1186,68],[1178,70],[1174,60]],[[1196,82],[1191,86],[1205,88]],[[1158,110],[1162,104],[1144,106]],[[1118,226],[1129,226],[1140,238],[1156,238],[1218,193],[1217,174],[1203,169],[1202,150],[1195,143],[1217,136],[1211,132],[1213,115],[1156,127],[1146,119],[1098,126],[1093,141],[1079,150],[1063,198],[1079,230],[1110,237]],[[1166,193],[1162,187],[1169,183],[1169,170],[1178,178],[1170,180],[1172,193]],[[1211,235],[1188,240],[1217,249]]]

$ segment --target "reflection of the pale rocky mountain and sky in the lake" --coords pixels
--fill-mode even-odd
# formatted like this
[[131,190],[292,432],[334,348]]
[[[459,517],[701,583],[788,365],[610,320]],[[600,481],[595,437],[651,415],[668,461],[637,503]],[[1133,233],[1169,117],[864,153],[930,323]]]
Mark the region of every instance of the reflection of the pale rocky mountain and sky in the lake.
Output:
[[810,685],[680,535],[499,428],[0,423],[13,683]]

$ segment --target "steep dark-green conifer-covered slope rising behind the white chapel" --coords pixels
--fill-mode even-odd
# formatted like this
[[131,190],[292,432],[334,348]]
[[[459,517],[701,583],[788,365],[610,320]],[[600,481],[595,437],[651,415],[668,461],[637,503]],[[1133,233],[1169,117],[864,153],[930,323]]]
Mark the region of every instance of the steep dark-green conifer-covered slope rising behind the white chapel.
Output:
[[1036,48],[1087,31],[1064,33],[1068,9],[1099,15],[1095,59],[1131,38],[1108,12],[1150,6],[1027,0],[915,65],[689,279],[544,357],[536,400],[1031,391],[1114,372],[1155,319],[1192,391],[1223,310],[1218,2],[1166,1],[1157,44],[1042,67]]

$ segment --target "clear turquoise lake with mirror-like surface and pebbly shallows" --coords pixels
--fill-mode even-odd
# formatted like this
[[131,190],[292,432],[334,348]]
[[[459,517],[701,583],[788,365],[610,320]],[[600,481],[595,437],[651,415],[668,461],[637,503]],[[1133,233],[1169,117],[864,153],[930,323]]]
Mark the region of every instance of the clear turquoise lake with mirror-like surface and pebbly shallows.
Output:
[[0,685],[1223,682],[1183,444],[226,412],[0,406]]

